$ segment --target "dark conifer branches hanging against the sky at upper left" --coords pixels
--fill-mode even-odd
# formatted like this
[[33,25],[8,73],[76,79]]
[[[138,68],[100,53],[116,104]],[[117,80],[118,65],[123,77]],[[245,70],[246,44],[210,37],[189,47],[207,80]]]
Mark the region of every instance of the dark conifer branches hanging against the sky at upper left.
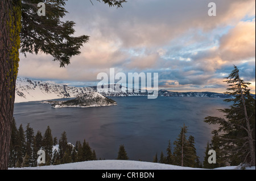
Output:
[[[79,55],[80,48],[88,43],[89,36],[72,36],[75,22],[61,19],[68,13],[65,9],[67,0],[22,0],[22,29],[20,31],[20,52],[51,54],[53,61],[60,66],[70,64],[72,56]],[[100,0],[97,0],[101,2]],[[38,3],[46,4],[46,16],[38,16]],[[122,7],[122,1],[102,0],[110,7]]]

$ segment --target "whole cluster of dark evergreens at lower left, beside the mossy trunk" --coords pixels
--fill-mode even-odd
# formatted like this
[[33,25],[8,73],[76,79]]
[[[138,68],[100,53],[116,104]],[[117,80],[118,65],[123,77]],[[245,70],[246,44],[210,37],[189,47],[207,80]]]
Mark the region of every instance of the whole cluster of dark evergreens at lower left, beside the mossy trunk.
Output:
[[[84,140],[81,145],[80,141],[77,141],[74,146],[68,143],[66,132],[61,134],[59,145],[56,145],[59,149],[53,149],[49,126],[44,136],[40,131],[34,135],[30,124],[27,125],[26,131],[23,130],[22,124],[17,129],[15,120],[12,128],[9,167],[36,167],[97,160],[96,151],[92,151],[88,142]],[[42,149],[46,152],[46,164],[38,165],[38,151]]]

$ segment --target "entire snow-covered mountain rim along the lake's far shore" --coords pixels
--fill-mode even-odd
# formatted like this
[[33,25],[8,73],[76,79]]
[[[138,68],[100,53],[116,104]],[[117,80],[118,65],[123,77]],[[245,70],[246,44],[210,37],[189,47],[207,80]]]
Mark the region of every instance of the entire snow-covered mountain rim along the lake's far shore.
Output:
[[[121,91],[116,91],[117,87]],[[34,81],[28,78],[18,78],[16,80],[15,103],[52,100],[61,98],[76,98],[90,92],[97,92],[97,87],[71,87],[67,85],[58,85],[51,82]],[[147,96],[148,92],[141,90],[131,90],[120,85],[108,85],[108,88],[100,90],[103,96]],[[216,92],[171,92],[159,90],[158,96],[178,96],[178,97],[205,97],[205,98],[230,98],[229,95]],[[255,95],[253,95],[255,98]]]

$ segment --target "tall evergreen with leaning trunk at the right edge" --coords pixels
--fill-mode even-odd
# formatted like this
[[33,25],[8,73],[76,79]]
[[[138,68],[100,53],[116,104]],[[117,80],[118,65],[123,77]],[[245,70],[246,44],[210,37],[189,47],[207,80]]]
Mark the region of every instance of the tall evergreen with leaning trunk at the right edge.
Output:
[[[249,163],[255,166],[255,99],[250,94],[248,85],[240,78],[240,70],[234,66],[232,73],[225,81],[229,84],[228,92],[232,98],[224,100],[232,102],[232,106],[220,110],[222,117],[205,117],[205,122],[218,124],[216,130],[220,143],[218,148],[225,153],[225,161],[234,163]],[[231,92],[229,92],[231,91]]]

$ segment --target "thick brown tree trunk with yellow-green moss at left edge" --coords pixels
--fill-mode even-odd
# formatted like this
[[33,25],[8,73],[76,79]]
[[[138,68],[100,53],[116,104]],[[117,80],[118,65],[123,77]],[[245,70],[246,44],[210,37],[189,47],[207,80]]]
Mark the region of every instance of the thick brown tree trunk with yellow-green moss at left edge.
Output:
[[18,74],[20,16],[20,0],[0,1],[0,170],[8,169]]

